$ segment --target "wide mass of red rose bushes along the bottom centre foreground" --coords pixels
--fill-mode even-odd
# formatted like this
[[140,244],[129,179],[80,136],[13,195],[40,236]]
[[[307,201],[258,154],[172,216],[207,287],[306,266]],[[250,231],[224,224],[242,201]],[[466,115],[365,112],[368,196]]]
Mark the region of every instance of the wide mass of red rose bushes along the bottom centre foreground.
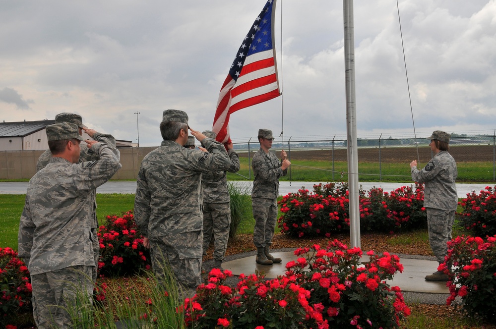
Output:
[[236,288],[224,284],[230,271],[214,269],[196,295],[186,299],[188,328],[398,328],[410,314],[398,287],[385,283],[403,271],[399,258],[337,240],[295,251],[297,261],[277,279],[241,275]]

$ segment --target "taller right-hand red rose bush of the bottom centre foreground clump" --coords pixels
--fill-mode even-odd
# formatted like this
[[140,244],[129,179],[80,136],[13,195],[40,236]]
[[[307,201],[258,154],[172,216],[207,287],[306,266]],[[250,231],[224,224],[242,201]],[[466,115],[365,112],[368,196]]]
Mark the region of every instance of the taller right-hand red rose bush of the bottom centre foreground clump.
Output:
[[310,305],[329,328],[399,328],[410,315],[400,288],[385,283],[403,271],[396,255],[370,251],[370,262],[361,265],[360,248],[348,249],[338,240],[326,248],[300,248],[295,255],[300,258],[286,265],[286,276],[310,291]]

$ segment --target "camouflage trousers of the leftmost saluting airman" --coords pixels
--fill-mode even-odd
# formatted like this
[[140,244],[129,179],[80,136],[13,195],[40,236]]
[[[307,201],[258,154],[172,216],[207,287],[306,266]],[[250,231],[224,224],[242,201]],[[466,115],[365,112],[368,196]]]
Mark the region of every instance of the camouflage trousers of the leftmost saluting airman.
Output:
[[67,310],[93,303],[94,266],[73,266],[31,275],[33,317],[38,329],[74,328],[81,315]]

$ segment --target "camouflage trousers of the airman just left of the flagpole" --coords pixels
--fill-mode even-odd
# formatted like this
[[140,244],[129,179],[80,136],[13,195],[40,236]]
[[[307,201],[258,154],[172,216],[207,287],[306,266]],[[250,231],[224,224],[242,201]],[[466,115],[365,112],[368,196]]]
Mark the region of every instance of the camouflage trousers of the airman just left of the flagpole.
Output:
[[253,244],[257,248],[271,245],[277,221],[277,199],[251,198],[251,208],[255,219]]

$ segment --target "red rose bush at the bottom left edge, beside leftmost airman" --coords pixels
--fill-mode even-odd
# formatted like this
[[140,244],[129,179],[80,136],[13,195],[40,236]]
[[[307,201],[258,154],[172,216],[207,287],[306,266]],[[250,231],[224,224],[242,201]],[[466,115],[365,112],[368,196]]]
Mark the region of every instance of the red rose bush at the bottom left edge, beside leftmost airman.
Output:
[[32,324],[31,297],[33,289],[26,264],[17,257],[17,251],[0,248],[0,327]]

